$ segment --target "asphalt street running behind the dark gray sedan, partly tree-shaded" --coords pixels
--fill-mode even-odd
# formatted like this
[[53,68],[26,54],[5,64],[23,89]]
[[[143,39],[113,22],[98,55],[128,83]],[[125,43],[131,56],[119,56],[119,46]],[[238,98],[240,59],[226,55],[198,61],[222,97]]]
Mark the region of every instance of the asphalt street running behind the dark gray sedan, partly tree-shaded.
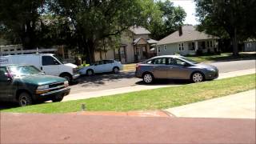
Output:
[[[231,62],[212,62],[210,65],[218,67],[219,73],[226,73],[238,70],[254,69],[256,66],[255,60],[242,60]],[[167,81],[169,84],[175,84],[175,81]],[[90,92],[98,90],[109,90],[114,88],[142,85],[142,79],[135,78],[134,72],[121,72],[120,74],[97,74],[94,76],[83,76],[78,79],[78,83],[71,86],[71,94],[78,94],[81,92]],[[158,82],[157,84],[166,84]]]

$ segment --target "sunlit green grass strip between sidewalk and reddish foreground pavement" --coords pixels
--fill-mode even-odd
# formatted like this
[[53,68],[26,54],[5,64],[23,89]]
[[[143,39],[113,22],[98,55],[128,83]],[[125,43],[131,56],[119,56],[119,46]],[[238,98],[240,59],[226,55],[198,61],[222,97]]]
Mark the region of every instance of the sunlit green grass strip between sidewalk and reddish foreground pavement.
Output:
[[89,98],[70,102],[45,103],[17,107],[2,112],[18,113],[68,113],[81,110],[86,104],[90,111],[162,110],[174,106],[218,98],[229,94],[255,89],[255,74],[237,78],[226,78],[211,82],[193,83],[184,86],[142,90],[100,98]]

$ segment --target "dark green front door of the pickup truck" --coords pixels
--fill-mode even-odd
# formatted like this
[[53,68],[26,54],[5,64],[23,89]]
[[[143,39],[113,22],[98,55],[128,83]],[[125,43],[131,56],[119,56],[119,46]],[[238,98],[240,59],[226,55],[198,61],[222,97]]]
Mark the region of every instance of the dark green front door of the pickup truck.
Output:
[[14,94],[13,84],[6,67],[0,67],[0,100],[10,100]]

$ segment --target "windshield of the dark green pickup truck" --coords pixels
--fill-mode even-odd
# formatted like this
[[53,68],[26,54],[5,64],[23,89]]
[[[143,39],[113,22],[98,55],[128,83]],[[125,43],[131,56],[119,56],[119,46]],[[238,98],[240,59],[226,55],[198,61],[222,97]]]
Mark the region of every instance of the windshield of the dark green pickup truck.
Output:
[[10,73],[15,76],[31,75],[31,74],[43,74],[34,66],[10,66]]

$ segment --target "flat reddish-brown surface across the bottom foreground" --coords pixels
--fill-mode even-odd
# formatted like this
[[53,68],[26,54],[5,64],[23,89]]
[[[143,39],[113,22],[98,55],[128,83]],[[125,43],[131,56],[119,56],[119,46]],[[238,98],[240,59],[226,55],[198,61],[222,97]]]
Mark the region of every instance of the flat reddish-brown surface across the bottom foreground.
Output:
[[255,143],[255,119],[1,114],[0,143]]

